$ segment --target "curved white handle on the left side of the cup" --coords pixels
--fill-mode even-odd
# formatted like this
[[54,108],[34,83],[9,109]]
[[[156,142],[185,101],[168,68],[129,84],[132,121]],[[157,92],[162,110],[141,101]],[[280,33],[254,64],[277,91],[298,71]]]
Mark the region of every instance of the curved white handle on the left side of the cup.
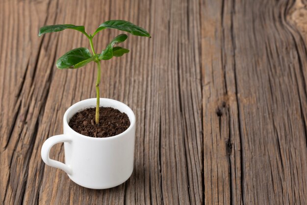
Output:
[[47,165],[51,167],[59,168],[63,170],[64,172],[66,172],[67,174],[71,175],[73,172],[72,172],[72,168],[69,165],[49,158],[49,152],[50,152],[51,147],[57,143],[64,143],[64,142],[71,143],[72,142],[71,137],[69,137],[68,135],[55,135],[55,136],[48,138],[42,146],[41,155],[42,155],[43,161]]

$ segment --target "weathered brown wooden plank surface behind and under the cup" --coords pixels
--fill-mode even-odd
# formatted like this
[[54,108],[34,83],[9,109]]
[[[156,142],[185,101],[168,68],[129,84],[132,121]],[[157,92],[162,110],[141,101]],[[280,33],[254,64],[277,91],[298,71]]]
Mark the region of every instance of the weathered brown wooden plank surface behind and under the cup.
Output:
[[[102,63],[102,97],[137,117],[135,167],[90,190],[40,157],[65,110],[95,97],[94,63],[55,67],[89,43],[37,34],[109,19],[153,38],[129,35],[131,52]],[[306,0],[1,0],[0,25],[0,205],[307,205]]]

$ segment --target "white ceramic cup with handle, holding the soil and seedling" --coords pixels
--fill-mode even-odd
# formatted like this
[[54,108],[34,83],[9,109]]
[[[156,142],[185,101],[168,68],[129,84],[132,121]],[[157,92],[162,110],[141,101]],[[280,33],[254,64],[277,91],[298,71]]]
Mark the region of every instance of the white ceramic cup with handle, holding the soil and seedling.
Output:
[[[95,106],[96,98],[91,98],[68,108],[63,118],[64,134],[48,138],[41,155],[47,165],[63,170],[77,184],[91,189],[107,189],[124,183],[132,174],[135,116],[124,103],[100,98],[100,106],[112,107],[128,115],[130,126],[126,131],[112,137],[94,138],[81,135],[68,125],[78,111]],[[51,147],[62,142],[65,164],[49,158]]]

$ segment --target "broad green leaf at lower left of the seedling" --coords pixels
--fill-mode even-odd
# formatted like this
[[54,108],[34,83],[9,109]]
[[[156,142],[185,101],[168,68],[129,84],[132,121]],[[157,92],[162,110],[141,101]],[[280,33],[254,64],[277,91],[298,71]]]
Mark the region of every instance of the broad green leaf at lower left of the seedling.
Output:
[[94,60],[94,57],[97,56],[92,56],[87,48],[76,48],[57,59],[56,67],[59,69],[79,68]]

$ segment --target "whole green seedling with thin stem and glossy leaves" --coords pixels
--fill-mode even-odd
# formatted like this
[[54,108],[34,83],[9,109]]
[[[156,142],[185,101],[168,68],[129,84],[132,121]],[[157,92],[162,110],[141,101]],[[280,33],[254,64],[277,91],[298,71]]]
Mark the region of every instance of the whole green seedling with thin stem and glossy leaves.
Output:
[[74,29],[77,31],[80,31],[83,33],[90,42],[92,53],[87,48],[76,48],[73,49],[66,54],[64,54],[62,57],[57,59],[56,61],[56,67],[59,69],[76,69],[79,67],[82,67],[86,65],[87,63],[94,61],[97,64],[97,81],[96,81],[96,97],[97,97],[97,103],[96,103],[96,117],[95,122],[96,124],[99,123],[99,105],[100,105],[100,94],[99,94],[99,84],[100,84],[100,76],[101,76],[101,60],[109,60],[113,56],[115,57],[121,57],[124,54],[128,53],[129,50],[126,48],[122,48],[119,46],[114,47],[115,44],[119,44],[124,42],[128,35],[126,34],[120,34],[116,36],[107,46],[104,50],[102,50],[102,53],[96,53],[93,45],[93,37],[101,30],[103,29],[118,29],[123,30],[131,33],[132,35],[138,35],[138,36],[146,36],[151,38],[150,34],[143,28],[138,27],[128,21],[124,20],[110,20],[102,23],[98,29],[93,34],[88,34],[85,32],[84,26],[75,26],[71,24],[63,24],[63,25],[52,25],[52,26],[44,26],[39,29],[38,36],[43,35],[44,33],[50,33],[50,32],[57,32],[64,29]]

